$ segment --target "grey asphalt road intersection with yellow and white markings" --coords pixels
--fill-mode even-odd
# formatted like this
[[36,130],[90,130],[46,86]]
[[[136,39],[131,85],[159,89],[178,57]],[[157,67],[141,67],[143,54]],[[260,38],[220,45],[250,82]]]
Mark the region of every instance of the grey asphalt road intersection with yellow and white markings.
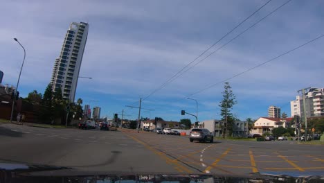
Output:
[[68,166],[102,173],[324,175],[324,146],[296,141],[190,143],[136,130],[0,125],[0,162]]

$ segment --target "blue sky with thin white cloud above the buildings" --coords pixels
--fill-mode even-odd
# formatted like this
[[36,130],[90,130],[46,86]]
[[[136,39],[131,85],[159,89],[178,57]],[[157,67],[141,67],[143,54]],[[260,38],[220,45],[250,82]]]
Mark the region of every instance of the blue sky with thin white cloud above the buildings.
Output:
[[[16,85],[23,58],[17,37],[26,48],[19,92],[44,93],[51,80],[69,24],[88,22],[76,98],[114,113],[137,118],[138,105],[186,64],[266,1],[3,1],[0,7],[0,70],[3,84]],[[273,0],[225,37],[222,46],[285,1]],[[195,113],[186,99],[200,89],[234,76],[294,49],[324,33],[324,1],[293,0],[257,26],[184,73],[142,103],[141,116],[178,121],[180,111]],[[324,87],[324,38],[278,60],[229,80],[237,98],[233,114],[239,119],[267,116],[269,105],[290,115],[289,101],[298,89]],[[199,61],[199,60],[198,60]],[[195,63],[195,62],[194,62]],[[220,119],[223,84],[190,96],[199,102],[199,121]]]

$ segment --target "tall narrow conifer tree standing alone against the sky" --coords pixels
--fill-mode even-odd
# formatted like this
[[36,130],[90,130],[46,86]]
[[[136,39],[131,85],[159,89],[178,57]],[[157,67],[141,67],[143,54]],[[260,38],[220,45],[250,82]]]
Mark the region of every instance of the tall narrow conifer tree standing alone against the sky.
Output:
[[224,92],[222,92],[222,94],[223,100],[219,102],[219,107],[221,108],[220,115],[222,116],[222,121],[227,121],[224,131],[227,131],[227,134],[231,136],[233,132],[233,123],[235,121],[231,110],[233,109],[233,105],[237,104],[237,101],[228,82],[225,82]]

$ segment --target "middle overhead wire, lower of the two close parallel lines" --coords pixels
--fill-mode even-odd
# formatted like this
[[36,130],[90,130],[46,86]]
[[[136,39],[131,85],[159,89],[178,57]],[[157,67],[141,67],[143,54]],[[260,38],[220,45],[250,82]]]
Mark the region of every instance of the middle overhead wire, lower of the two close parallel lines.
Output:
[[[285,6],[287,3],[289,3],[289,1],[291,0],[288,0],[286,1],[285,3],[283,3],[281,6],[279,6],[278,8],[276,8],[275,10],[269,12],[269,14],[267,14],[266,16],[264,16],[262,19],[256,21],[254,24],[252,24],[251,26],[249,26],[248,28],[246,28],[245,30],[243,30],[240,34],[236,35],[235,37],[233,37],[233,39],[229,40],[228,42],[226,42],[226,44],[223,44],[222,46],[220,46],[218,49],[216,49],[215,51],[213,51],[212,53],[208,54],[205,58],[199,60],[199,62],[196,62],[194,65],[192,65],[191,67],[189,67],[188,69],[186,69],[186,71],[183,71],[182,73],[180,73],[178,76],[172,78],[168,83],[167,85],[176,80],[177,78],[179,78],[180,76],[183,75],[183,73],[186,73],[187,71],[189,71],[190,69],[192,69],[192,67],[195,67],[197,64],[199,64],[200,62],[206,60],[207,58],[210,57],[210,55],[213,55],[214,53],[216,53],[217,51],[219,51],[220,49],[222,49],[224,46],[226,46],[227,44],[233,42],[233,40],[235,40],[237,37],[240,37],[242,34],[246,33],[247,30],[249,30],[250,28],[253,28],[254,26],[256,26],[257,24],[259,24],[262,20],[264,20],[265,18],[269,17],[269,15],[273,14],[273,12],[276,12],[277,10],[279,10],[280,8],[282,8],[282,6]],[[165,87],[165,85],[163,86]],[[163,87],[161,87],[160,89],[162,89]]]

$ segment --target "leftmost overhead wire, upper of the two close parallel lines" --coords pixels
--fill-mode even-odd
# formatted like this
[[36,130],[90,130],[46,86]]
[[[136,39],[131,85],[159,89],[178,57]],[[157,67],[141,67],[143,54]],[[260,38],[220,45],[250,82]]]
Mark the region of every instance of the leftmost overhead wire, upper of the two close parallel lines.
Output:
[[[258,12],[259,10],[261,10],[264,6],[266,6],[270,1],[267,1],[266,3],[264,3],[260,8],[258,8],[258,10],[255,10],[255,12],[253,12],[251,15],[249,15],[249,17],[246,17],[246,19],[244,19],[243,21],[240,22],[240,24],[237,24],[237,26],[235,26],[234,28],[232,28],[232,30],[230,30],[228,33],[226,33],[223,37],[221,37],[219,40],[217,40],[217,42],[215,42],[213,45],[209,46],[208,49],[206,49],[203,53],[201,53],[200,55],[197,56],[197,58],[195,58],[194,60],[192,60],[191,62],[189,62],[188,64],[186,64],[185,67],[183,67],[182,69],[180,69],[177,73],[175,73],[171,78],[169,78],[167,81],[165,81],[160,87],[158,87],[157,89],[154,89],[153,92],[151,92],[149,95],[147,95],[145,98],[143,98],[143,101],[145,101],[145,99],[149,98],[150,96],[152,96],[152,94],[155,94],[156,92],[158,92],[160,89],[162,89],[163,87],[165,87],[166,85],[168,85],[170,82],[172,82],[174,79],[176,79],[176,77],[179,75],[179,73],[181,73],[184,69],[186,69],[187,67],[190,66],[190,64],[192,64],[193,62],[195,62],[198,58],[200,58],[202,55],[204,55],[207,51],[209,51],[211,48],[213,48],[213,46],[215,46],[217,43],[219,43],[220,41],[222,41],[224,39],[224,37],[226,37],[227,35],[229,35],[230,33],[232,33],[237,27],[239,27],[241,24],[243,24],[246,20],[248,20],[249,18],[251,18],[253,15],[255,15],[256,12]],[[289,0],[291,1],[291,0]]]

